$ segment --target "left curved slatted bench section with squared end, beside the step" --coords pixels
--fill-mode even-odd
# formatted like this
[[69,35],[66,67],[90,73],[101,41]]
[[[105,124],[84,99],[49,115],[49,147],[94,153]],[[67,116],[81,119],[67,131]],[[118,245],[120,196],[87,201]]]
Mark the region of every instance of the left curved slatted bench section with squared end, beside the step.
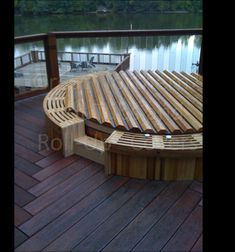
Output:
[[71,82],[58,85],[44,98],[43,109],[46,115],[48,137],[53,148],[63,149],[65,157],[74,154],[74,138],[85,135],[84,120],[66,109],[66,92]]

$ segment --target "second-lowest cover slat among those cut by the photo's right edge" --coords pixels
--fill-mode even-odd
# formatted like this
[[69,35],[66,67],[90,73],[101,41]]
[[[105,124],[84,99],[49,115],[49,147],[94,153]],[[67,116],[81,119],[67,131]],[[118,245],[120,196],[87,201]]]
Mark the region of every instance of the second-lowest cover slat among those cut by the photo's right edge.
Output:
[[[156,72],[149,71],[149,73],[170,93],[174,96],[176,100],[178,100],[184,107],[201,123],[202,122],[202,113],[199,111],[193,104],[192,101],[189,102],[182,93],[177,92],[175,88],[170,85],[170,82],[167,82],[165,79],[166,76],[162,74],[160,71],[156,70]],[[174,86],[175,87],[175,86]],[[179,90],[178,90],[179,91]],[[182,90],[181,90],[182,91]],[[187,97],[187,95],[186,95]],[[188,96],[190,98],[190,96]]]

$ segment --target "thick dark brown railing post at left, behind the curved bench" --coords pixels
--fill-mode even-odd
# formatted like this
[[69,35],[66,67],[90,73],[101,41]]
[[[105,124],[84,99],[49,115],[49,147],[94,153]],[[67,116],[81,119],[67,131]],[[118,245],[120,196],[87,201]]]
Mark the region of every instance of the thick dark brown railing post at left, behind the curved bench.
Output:
[[57,60],[57,48],[56,48],[56,36],[54,34],[48,34],[44,40],[45,46],[45,59],[47,68],[47,77],[49,88],[57,86],[60,82],[58,60]]

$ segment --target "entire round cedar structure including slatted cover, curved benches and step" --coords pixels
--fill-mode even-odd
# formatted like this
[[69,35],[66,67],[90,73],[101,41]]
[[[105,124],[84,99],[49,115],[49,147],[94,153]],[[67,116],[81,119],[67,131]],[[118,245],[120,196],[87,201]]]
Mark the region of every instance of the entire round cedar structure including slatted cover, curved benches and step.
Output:
[[[198,113],[202,110],[201,103],[198,102],[201,94],[195,93],[198,88],[201,90],[199,75],[188,76],[185,73],[167,71],[128,71],[121,72],[120,75],[107,73],[106,77],[94,76],[81,76],[60,84],[44,99],[49,138],[54,143],[57,139],[57,145],[62,144],[64,156],[78,154],[104,164],[106,174],[160,180],[202,179],[202,133],[201,125],[198,124],[202,121],[201,114]],[[158,86],[154,80],[158,81]],[[128,88],[124,86],[124,82],[128,84]],[[185,133],[177,134],[180,133],[179,127],[167,113],[169,110],[171,116],[178,115],[177,106],[180,107],[179,101],[186,94],[182,89],[183,85],[187,87],[184,88],[188,91],[187,94],[197,94],[192,101],[196,108],[191,109],[192,113],[181,109],[185,118],[195,124],[194,128],[199,131],[196,133],[191,131],[186,120],[181,120],[178,125]],[[159,92],[152,92],[150,96],[149,92],[153,87]],[[148,103],[140,100],[141,95],[146,100],[149,97]],[[166,97],[169,97],[168,101],[164,99]],[[133,120],[130,109],[127,109],[127,106],[133,105],[136,109],[136,120]],[[190,104],[184,99],[184,105]],[[75,108],[80,114],[75,113]],[[149,113],[151,117],[153,109],[162,114],[162,119],[172,134],[146,134],[152,131],[151,127],[148,128],[145,117]],[[192,118],[193,113],[198,121]],[[126,125],[121,114],[126,116]],[[157,121],[156,119],[153,118],[153,121]],[[136,133],[137,122],[145,129],[144,132]],[[109,128],[109,137],[105,141],[99,141],[87,136],[85,128],[89,128],[89,123],[93,123],[97,130],[103,126]],[[160,123],[154,125],[158,132],[166,134],[163,126]]]

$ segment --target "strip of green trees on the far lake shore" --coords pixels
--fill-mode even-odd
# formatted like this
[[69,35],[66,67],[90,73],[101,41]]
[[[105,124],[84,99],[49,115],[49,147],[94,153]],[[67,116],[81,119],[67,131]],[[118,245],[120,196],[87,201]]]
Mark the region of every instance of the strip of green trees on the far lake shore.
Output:
[[65,14],[95,12],[104,7],[113,12],[198,12],[202,0],[14,0],[19,14]]

